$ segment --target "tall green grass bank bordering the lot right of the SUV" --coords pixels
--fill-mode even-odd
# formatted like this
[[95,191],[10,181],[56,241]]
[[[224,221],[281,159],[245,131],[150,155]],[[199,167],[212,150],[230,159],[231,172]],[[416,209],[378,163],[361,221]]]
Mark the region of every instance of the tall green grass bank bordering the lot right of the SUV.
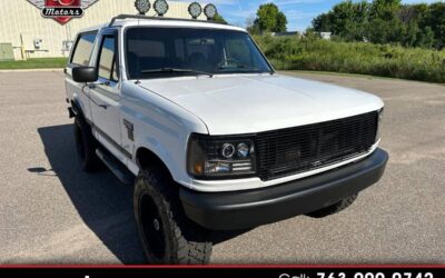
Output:
[[277,70],[330,71],[445,82],[445,51],[299,37],[255,37]]

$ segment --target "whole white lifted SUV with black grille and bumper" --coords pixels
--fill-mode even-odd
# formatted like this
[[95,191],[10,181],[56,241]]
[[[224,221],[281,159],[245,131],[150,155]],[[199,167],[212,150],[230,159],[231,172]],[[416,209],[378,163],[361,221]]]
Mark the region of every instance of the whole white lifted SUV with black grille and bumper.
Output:
[[152,264],[207,264],[209,232],[348,207],[382,177],[383,101],[277,73],[241,28],[120,16],[66,68],[86,171],[135,185]]

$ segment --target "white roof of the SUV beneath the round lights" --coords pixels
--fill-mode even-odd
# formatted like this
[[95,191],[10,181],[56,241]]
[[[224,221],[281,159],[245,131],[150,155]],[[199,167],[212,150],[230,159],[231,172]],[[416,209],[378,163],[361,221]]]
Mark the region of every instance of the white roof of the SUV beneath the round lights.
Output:
[[[95,26],[90,28],[82,29],[80,32],[95,31],[102,28],[107,28],[110,24],[103,23],[100,26]],[[134,27],[134,26],[142,26],[142,27],[179,27],[179,28],[210,28],[218,30],[234,30],[246,32],[245,29],[240,27],[229,26],[229,24],[220,24],[200,20],[184,20],[184,19],[156,19],[156,18],[147,18],[147,19],[118,19],[112,24],[113,27]]]

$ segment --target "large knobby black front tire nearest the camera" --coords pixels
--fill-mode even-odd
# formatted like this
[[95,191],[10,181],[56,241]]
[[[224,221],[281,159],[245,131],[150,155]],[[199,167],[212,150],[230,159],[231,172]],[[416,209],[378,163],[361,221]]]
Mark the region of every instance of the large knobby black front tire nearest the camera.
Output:
[[135,217],[144,250],[155,265],[207,265],[212,244],[191,222],[179,201],[177,185],[160,170],[141,170],[135,187]]

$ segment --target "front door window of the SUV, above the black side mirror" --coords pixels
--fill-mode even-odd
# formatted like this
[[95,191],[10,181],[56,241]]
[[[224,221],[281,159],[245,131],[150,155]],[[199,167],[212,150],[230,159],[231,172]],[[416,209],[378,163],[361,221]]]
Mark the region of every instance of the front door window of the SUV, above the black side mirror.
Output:
[[116,38],[113,36],[103,37],[98,63],[99,77],[118,80],[116,52]]

